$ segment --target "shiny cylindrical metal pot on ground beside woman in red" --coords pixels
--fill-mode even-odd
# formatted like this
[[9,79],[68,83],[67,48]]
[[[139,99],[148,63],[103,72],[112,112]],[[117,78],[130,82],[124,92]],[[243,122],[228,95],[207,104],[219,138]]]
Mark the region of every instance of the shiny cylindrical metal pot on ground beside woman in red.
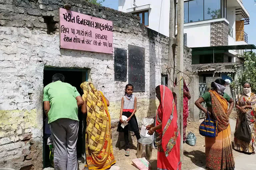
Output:
[[149,160],[152,156],[153,141],[149,138],[140,138],[137,144],[137,158],[145,157]]

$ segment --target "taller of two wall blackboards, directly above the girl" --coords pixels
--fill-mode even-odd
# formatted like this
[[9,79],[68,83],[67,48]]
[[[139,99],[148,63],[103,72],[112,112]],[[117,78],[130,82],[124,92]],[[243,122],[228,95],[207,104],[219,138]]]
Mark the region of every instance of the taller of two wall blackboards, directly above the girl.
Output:
[[145,91],[145,48],[129,45],[129,83],[133,85],[134,92]]

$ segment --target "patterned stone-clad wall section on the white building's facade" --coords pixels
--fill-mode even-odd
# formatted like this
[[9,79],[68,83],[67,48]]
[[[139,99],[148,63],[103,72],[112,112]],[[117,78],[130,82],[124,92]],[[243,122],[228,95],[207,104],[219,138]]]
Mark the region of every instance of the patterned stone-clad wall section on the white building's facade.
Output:
[[211,46],[228,45],[228,24],[225,21],[211,23]]

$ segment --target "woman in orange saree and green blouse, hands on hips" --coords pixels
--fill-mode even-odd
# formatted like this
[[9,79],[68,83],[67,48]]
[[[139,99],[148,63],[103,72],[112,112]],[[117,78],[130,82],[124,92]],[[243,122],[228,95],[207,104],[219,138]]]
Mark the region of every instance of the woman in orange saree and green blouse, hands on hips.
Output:
[[[235,168],[229,125],[229,115],[235,103],[224,93],[225,83],[222,79],[215,80],[211,84],[212,90],[203,94],[195,102],[195,105],[203,112],[211,113],[211,119],[218,121],[217,136],[214,138],[205,137],[205,169],[207,170],[232,170]],[[207,109],[201,105],[203,102],[206,102]],[[228,103],[230,103],[229,108]]]

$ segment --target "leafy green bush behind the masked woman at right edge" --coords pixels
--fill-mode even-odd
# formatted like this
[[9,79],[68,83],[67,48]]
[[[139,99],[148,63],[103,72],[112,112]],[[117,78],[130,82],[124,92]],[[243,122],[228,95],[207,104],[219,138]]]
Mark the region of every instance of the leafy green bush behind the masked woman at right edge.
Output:
[[243,55],[238,55],[243,58],[243,71],[237,73],[238,76],[231,83],[233,89],[240,88],[244,83],[250,83],[252,92],[256,92],[256,53],[252,51],[244,52]]

